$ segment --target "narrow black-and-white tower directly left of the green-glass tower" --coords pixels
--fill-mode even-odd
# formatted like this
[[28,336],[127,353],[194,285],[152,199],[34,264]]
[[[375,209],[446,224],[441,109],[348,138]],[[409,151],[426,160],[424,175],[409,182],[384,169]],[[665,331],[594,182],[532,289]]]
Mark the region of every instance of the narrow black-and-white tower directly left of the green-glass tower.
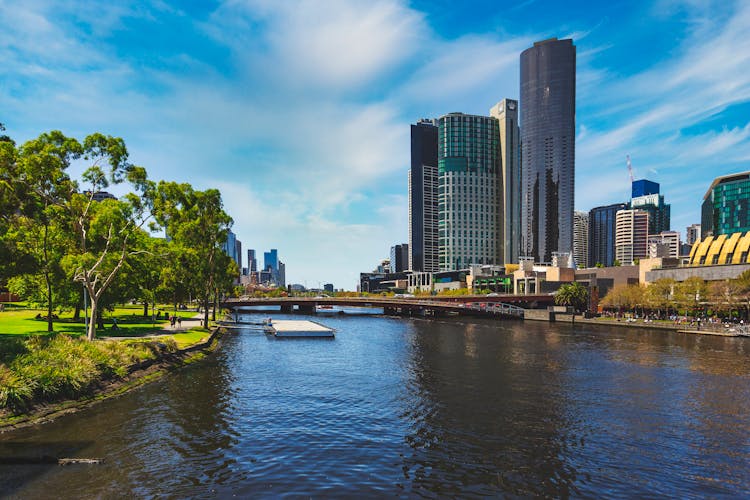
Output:
[[438,126],[423,119],[411,126],[409,261],[412,271],[438,270]]

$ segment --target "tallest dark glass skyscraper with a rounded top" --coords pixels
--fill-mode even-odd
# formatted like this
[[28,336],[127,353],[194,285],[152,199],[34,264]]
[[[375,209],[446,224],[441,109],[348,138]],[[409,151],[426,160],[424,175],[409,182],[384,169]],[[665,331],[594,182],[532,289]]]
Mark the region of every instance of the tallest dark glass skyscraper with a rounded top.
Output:
[[576,48],[552,38],[521,53],[521,251],[573,249]]

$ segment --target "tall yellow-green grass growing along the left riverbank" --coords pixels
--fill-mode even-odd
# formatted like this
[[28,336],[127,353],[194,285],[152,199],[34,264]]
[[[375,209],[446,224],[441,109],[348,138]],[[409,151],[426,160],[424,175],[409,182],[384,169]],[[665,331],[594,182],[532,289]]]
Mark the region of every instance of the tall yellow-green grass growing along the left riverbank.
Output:
[[67,335],[0,342],[0,410],[75,398],[102,380],[123,377],[134,363],[174,351],[172,342],[89,342]]

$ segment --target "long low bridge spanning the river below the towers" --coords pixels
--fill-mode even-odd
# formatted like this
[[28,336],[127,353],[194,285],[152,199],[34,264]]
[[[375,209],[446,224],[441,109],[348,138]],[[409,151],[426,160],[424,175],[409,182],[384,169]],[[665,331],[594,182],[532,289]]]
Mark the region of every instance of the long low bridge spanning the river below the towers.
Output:
[[283,313],[295,309],[314,314],[318,306],[382,308],[388,315],[439,316],[463,314],[478,316],[523,317],[525,309],[543,308],[554,303],[551,295],[465,295],[430,297],[279,297],[226,299],[221,305],[227,309],[257,306],[278,306]]

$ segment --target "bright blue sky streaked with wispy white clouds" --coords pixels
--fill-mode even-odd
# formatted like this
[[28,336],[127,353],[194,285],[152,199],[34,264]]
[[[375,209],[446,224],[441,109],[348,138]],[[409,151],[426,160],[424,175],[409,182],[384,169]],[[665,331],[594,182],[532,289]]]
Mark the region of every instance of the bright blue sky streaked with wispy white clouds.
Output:
[[222,190],[243,248],[352,289],[405,242],[409,124],[518,98],[519,54],[578,51],[577,210],[661,183],[672,228],[750,170],[750,3],[0,0],[0,122],[125,139]]

